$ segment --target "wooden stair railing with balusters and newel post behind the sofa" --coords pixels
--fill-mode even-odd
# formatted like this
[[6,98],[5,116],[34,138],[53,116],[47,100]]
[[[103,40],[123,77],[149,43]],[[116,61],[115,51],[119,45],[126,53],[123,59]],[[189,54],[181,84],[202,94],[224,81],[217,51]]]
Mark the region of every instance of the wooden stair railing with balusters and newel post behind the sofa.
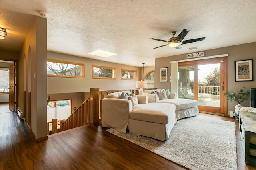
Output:
[[[90,97],[66,120],[58,122],[57,119],[52,119],[52,122],[47,123],[47,135],[49,135],[50,123],[52,123],[52,134],[58,132],[58,125],[60,127],[59,131],[61,132],[89,123],[93,125],[99,124],[102,117],[102,99],[106,98],[110,93],[126,90],[100,90],[99,88],[90,88]],[[128,89],[128,91],[138,95],[138,89]]]

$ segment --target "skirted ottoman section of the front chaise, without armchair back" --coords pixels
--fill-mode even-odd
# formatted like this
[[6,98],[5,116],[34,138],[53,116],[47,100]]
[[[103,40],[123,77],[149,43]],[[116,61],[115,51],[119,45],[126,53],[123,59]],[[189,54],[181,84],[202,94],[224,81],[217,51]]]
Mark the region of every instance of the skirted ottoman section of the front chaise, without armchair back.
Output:
[[164,141],[176,122],[174,104],[140,104],[134,105],[130,112],[128,129],[130,133]]

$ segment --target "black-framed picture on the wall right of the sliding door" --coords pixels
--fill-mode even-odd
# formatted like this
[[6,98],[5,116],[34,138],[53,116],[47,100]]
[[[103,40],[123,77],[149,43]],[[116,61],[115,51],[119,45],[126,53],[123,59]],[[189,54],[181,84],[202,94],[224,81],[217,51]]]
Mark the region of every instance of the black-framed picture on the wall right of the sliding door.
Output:
[[253,81],[252,59],[235,61],[235,76],[238,81]]

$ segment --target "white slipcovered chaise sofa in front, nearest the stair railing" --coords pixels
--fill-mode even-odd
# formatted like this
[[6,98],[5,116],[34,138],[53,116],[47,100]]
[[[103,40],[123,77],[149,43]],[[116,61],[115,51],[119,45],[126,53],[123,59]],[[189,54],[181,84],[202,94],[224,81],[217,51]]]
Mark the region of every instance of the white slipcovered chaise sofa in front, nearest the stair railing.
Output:
[[148,103],[147,96],[136,96],[138,104],[133,105],[129,99],[119,99],[121,93],[108,94],[108,98],[102,99],[102,127],[124,133],[128,129],[130,133],[161,141],[168,139],[177,122],[174,104]]

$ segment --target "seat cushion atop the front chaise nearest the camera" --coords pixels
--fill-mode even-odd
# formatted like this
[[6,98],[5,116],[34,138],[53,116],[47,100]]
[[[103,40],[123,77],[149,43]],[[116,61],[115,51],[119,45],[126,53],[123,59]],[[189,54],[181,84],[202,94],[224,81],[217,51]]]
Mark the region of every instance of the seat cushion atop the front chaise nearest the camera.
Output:
[[169,114],[175,114],[175,105],[168,103],[138,104],[132,107],[130,118],[133,120],[167,124]]

